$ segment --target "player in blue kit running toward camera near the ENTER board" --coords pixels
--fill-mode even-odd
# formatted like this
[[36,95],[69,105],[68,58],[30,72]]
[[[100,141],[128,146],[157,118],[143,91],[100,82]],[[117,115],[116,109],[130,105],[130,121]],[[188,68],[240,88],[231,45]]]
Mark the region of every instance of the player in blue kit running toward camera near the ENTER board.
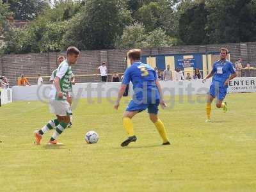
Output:
[[228,83],[231,79],[236,77],[236,69],[233,63],[228,61],[227,58],[228,50],[222,48],[220,51],[220,60],[216,61],[212,66],[212,71],[204,79],[212,77],[212,83],[210,86],[210,91],[207,99],[206,114],[207,120],[205,122],[211,122],[211,104],[212,100],[217,97],[216,107],[223,108],[224,112],[227,112],[227,103],[223,102],[227,94]]

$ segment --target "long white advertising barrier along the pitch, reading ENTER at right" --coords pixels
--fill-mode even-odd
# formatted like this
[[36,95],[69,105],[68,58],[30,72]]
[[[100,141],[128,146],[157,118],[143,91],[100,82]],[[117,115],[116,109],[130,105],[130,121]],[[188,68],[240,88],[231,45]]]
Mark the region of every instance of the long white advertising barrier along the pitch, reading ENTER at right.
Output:
[[[160,81],[164,95],[196,95],[206,94],[211,79],[202,83],[202,79],[191,81]],[[78,83],[73,86],[76,98],[117,97],[121,83]],[[13,100],[47,100],[51,85],[13,86]],[[132,95],[132,85],[130,85]],[[239,77],[230,81],[228,93],[256,92],[256,77]]]

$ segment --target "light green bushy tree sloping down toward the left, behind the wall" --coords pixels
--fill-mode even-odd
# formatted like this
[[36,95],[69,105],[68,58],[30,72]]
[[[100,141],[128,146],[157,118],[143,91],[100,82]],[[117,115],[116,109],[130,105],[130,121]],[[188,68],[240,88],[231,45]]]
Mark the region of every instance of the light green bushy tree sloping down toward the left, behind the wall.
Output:
[[[79,12],[79,2],[67,0],[46,8],[35,20],[23,29],[12,28],[6,33],[5,52],[51,52],[62,51],[62,39],[71,17]],[[68,14],[67,13],[68,10]]]

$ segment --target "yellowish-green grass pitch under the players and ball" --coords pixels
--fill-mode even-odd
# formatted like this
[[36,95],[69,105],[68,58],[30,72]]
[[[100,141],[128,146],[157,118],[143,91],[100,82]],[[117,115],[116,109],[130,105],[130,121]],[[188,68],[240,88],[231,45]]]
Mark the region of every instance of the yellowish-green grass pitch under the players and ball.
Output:
[[[161,139],[146,112],[133,119],[136,143],[126,138],[122,113],[113,104],[79,100],[74,123],[59,140],[64,146],[33,145],[33,131],[53,115],[42,102],[13,102],[0,108],[0,191],[256,191],[255,93],[227,95],[228,113],[175,97],[160,109],[172,145]],[[202,99],[193,96],[192,100]],[[169,104],[170,105],[170,104]],[[86,144],[94,130],[97,144]]]

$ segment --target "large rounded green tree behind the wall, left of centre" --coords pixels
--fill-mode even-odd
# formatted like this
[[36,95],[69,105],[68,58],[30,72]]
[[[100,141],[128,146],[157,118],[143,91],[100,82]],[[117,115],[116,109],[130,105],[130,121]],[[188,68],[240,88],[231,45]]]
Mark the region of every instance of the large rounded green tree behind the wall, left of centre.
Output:
[[122,0],[88,0],[85,8],[71,21],[64,47],[79,49],[110,49],[116,36],[131,23],[131,13]]

